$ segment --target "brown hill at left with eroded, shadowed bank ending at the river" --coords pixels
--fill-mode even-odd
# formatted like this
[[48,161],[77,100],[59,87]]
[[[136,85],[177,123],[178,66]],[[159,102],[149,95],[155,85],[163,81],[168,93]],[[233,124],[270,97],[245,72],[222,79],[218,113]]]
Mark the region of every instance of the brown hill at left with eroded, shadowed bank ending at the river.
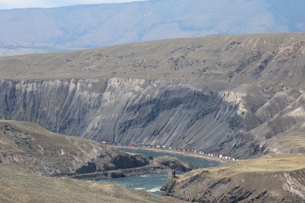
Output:
[[132,156],[94,141],[51,133],[29,122],[0,121],[0,143],[0,163],[15,163],[45,176],[149,164],[145,156]]

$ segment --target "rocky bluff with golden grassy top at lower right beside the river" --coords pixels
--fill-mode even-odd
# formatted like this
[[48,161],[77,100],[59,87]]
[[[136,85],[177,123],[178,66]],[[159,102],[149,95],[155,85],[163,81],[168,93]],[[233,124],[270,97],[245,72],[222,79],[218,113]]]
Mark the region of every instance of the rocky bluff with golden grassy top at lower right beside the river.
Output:
[[194,170],[178,177],[169,173],[162,187],[163,195],[211,203],[304,202],[304,163],[296,167],[300,169],[289,169],[295,160],[304,160],[304,154],[293,162],[285,156],[274,162],[269,158],[251,160],[249,165],[245,160],[244,163],[225,164],[211,171]]

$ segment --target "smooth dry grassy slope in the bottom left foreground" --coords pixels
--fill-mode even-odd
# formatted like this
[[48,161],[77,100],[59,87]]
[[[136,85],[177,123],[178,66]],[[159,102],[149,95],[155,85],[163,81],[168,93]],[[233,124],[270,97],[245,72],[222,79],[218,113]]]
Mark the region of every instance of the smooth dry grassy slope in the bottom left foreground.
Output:
[[45,177],[0,163],[1,202],[185,202],[119,185],[68,177]]

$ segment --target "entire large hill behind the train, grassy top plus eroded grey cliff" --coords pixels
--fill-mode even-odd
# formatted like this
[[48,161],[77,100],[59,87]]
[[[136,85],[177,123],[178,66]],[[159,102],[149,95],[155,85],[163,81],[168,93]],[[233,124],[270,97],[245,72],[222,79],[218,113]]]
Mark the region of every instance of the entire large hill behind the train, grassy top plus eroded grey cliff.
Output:
[[304,36],[209,36],[3,57],[0,118],[99,142],[236,158],[304,151],[305,144],[289,144],[291,133],[305,132]]

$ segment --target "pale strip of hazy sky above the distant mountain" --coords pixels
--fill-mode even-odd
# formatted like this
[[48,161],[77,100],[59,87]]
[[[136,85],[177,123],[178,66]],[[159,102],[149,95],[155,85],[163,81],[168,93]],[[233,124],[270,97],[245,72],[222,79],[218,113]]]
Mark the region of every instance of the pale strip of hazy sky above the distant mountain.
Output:
[[16,8],[51,8],[59,6],[77,5],[77,4],[101,4],[101,3],[119,3],[134,2],[143,0],[0,0],[1,9]]

